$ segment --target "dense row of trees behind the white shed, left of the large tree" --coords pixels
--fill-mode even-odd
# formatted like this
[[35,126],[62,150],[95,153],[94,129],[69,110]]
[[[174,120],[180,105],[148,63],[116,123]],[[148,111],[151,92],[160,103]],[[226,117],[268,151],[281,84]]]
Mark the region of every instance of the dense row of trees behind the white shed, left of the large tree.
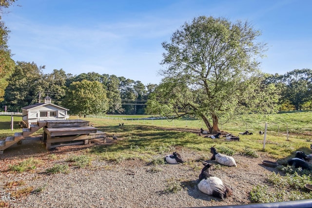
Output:
[[14,72],[6,79],[8,85],[1,105],[17,112],[50,96],[54,104],[68,108],[71,114],[144,114],[145,105],[141,104],[145,102],[140,100],[147,100],[156,87],[156,84],[144,86],[141,81],[95,72],[73,76],[55,69],[51,74],[43,74],[44,68],[34,62],[17,61]]

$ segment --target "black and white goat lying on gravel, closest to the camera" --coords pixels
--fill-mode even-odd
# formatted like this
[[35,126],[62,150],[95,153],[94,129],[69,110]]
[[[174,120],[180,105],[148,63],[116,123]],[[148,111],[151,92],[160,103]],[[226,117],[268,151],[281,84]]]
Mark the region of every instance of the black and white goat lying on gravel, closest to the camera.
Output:
[[225,186],[220,178],[212,176],[210,174],[210,167],[213,164],[203,163],[203,165],[205,165],[205,167],[201,170],[201,173],[199,174],[198,189],[205,194],[220,197],[221,200],[224,200],[224,198],[231,196],[233,194],[232,189]]

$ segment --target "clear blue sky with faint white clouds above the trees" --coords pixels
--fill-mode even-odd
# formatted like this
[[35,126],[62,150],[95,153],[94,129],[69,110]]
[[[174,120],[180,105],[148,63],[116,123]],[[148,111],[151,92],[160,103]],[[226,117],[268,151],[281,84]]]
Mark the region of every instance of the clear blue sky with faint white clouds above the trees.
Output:
[[[20,5],[20,6],[17,6]],[[15,61],[159,84],[161,43],[198,16],[247,20],[268,44],[261,70],[312,69],[312,0],[17,0],[2,15]]]

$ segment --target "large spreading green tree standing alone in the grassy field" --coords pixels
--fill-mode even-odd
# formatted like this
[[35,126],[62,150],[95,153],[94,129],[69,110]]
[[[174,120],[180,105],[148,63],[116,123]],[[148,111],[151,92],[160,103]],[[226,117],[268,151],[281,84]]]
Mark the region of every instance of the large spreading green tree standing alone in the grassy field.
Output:
[[256,42],[260,35],[247,21],[201,16],[185,22],[170,42],[162,43],[165,68],[159,73],[165,78],[150,96],[148,112],[195,115],[210,132],[219,130],[220,117],[229,118],[242,107],[255,112],[260,100],[249,102],[248,97],[257,98],[263,80],[257,58],[266,44]]

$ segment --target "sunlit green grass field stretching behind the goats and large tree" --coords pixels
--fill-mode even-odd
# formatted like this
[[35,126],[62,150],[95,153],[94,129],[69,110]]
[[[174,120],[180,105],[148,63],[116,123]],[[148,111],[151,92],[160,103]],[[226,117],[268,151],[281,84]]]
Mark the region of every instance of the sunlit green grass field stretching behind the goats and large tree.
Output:
[[[217,144],[218,149],[232,149],[235,152],[244,152],[246,147],[254,151],[261,151],[273,158],[285,158],[290,156],[293,151],[302,150],[310,152],[312,141],[312,112],[278,113],[273,115],[244,115],[235,121],[220,125],[220,129],[226,132],[238,135],[239,132],[254,132],[253,135],[241,135],[240,142],[227,142],[224,139],[207,140],[199,137],[194,132],[199,132],[200,128],[206,129],[201,120],[176,119],[176,120],[141,120],[142,117],[151,116],[112,116],[91,118],[80,117],[79,119],[89,120],[98,130],[106,132],[108,135],[115,134],[118,137],[125,138],[118,142],[114,147],[103,147],[105,150],[91,150],[93,152],[105,151],[105,157],[108,152],[112,157],[133,157],[139,154],[152,152],[162,153],[163,151],[174,150],[175,146],[181,146],[197,151],[208,151],[208,149]],[[77,116],[71,116],[70,119],[77,119]],[[109,119],[108,119],[109,118]],[[14,116],[14,129],[11,130],[11,116],[0,116],[0,139],[14,135],[15,132],[21,132],[19,127],[20,116]],[[263,150],[263,136],[258,135],[259,130],[264,131],[265,123],[268,125],[266,138],[266,147]],[[119,126],[119,123],[124,123]],[[289,137],[286,135],[286,126],[289,128]],[[166,131],[164,129],[172,129]],[[181,131],[178,129],[192,129],[190,131]],[[38,132],[42,133],[42,132]],[[136,150],[136,151],[134,151]],[[113,156],[115,155],[115,156]]]

